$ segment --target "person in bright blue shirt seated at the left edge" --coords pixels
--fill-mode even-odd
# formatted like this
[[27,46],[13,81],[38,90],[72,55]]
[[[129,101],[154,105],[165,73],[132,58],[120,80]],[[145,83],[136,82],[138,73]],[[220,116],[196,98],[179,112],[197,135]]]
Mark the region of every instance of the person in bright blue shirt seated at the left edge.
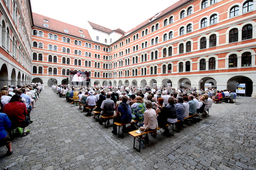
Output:
[[7,133],[7,130],[11,128],[12,122],[8,118],[6,113],[0,113],[0,146],[6,145],[8,151],[5,156],[12,155],[12,142]]

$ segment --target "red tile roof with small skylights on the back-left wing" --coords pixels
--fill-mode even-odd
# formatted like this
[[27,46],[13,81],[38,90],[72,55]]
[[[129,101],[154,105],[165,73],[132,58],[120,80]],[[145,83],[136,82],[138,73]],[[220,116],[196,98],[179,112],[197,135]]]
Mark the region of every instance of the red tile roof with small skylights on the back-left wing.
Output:
[[[79,37],[85,40],[92,40],[88,31],[84,28],[79,28],[77,26],[73,26],[68,23],[64,23],[64,22],[43,16],[40,14],[36,14],[36,13],[33,13],[32,16],[33,16],[34,26],[49,29],[52,31],[57,31],[57,32],[68,34],[75,37]],[[44,22],[44,20],[48,20],[49,22],[46,23]],[[49,27],[48,28],[44,27],[44,23],[48,24]],[[68,33],[64,32],[64,29],[68,30]],[[83,31],[83,33],[80,33],[79,30]],[[81,34],[83,34],[84,37],[81,37]]]

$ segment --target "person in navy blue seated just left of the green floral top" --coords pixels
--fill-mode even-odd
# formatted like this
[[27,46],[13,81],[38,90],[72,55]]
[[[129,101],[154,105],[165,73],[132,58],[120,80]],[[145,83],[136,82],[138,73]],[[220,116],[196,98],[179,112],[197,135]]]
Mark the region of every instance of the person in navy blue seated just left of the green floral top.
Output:
[[[128,97],[122,96],[122,102],[119,104],[117,108],[116,117],[113,119],[113,122],[119,122],[122,124],[131,122],[131,118],[132,118],[131,106],[127,104],[127,101],[128,101]],[[126,132],[126,125],[123,125],[123,132]],[[113,124],[112,133],[115,135],[117,133],[117,128],[115,124]]]

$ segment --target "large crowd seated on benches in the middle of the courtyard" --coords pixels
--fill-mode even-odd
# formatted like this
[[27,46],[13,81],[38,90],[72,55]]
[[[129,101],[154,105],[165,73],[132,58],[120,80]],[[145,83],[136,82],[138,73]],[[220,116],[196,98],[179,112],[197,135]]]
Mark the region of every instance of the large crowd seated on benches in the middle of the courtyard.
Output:
[[[61,96],[68,98],[79,99],[82,105],[85,105],[84,111],[87,112],[87,116],[90,116],[90,109],[100,112],[103,116],[114,117],[113,122],[119,122],[121,124],[128,124],[132,120],[136,120],[135,123],[131,123],[126,127],[123,125],[123,132],[137,129],[135,125],[142,130],[155,130],[157,127],[162,127],[164,135],[169,136],[169,130],[166,125],[176,123],[178,127],[188,124],[189,115],[195,115],[200,113],[202,116],[208,115],[209,108],[212,106],[212,102],[216,102],[215,97],[219,96],[219,92],[215,89],[208,89],[207,91],[201,91],[197,89],[186,89],[182,92],[182,89],[177,91],[172,88],[140,88],[140,87],[115,87],[106,88],[99,87],[79,87],[75,86],[61,86],[52,87],[55,92]],[[216,93],[216,94],[215,94]],[[214,96],[215,95],[215,96]],[[220,94],[222,95],[222,94]],[[223,98],[223,95],[222,95]],[[220,99],[222,99],[220,98]],[[225,101],[232,101],[236,98],[233,91],[228,92],[225,90]],[[93,116],[95,118],[95,115]],[[99,120],[99,124],[102,125],[102,119]],[[117,134],[117,127],[113,125],[113,134]],[[152,134],[153,137],[156,133]],[[148,136],[145,137],[148,140]]]

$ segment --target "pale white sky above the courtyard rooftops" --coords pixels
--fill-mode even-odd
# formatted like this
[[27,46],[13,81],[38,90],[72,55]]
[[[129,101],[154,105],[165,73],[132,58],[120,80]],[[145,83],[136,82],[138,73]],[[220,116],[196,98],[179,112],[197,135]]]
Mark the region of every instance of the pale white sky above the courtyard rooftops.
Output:
[[80,28],[86,21],[127,32],[178,0],[30,0],[32,12]]

